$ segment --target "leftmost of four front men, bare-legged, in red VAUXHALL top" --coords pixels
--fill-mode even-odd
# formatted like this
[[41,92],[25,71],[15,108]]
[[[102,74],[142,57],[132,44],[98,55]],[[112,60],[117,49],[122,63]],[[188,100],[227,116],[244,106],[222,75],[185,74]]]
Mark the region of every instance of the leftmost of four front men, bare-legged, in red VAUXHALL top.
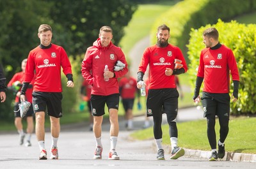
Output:
[[57,142],[60,135],[60,117],[62,117],[61,68],[67,77],[67,87],[74,87],[72,69],[64,48],[51,43],[51,26],[42,24],[38,28],[38,38],[41,44],[31,50],[28,55],[20,101],[25,101],[29,82],[35,75],[33,108],[36,119],[36,138],[40,148],[39,159],[47,159],[44,143],[46,107],[51,120],[51,159],[58,159]]

